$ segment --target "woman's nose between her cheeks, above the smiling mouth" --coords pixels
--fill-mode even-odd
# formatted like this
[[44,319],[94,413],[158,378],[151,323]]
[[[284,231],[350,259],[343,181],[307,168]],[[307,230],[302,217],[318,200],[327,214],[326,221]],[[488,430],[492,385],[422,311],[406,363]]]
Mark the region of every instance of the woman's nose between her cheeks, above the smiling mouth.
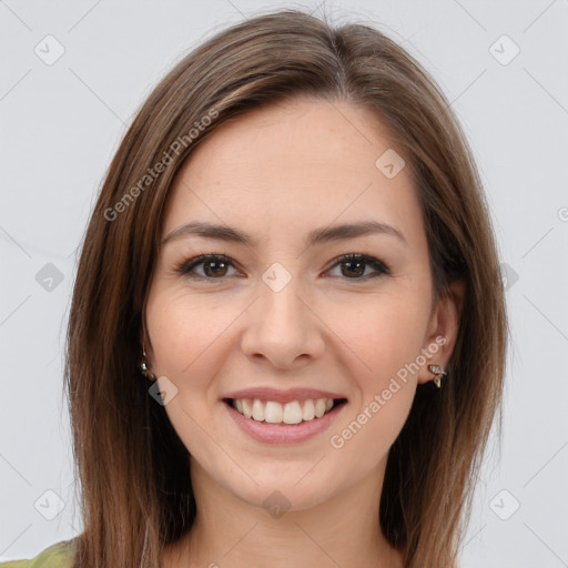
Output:
[[246,311],[241,348],[251,359],[278,369],[294,369],[325,349],[325,324],[298,277],[282,288],[258,284],[258,296]]

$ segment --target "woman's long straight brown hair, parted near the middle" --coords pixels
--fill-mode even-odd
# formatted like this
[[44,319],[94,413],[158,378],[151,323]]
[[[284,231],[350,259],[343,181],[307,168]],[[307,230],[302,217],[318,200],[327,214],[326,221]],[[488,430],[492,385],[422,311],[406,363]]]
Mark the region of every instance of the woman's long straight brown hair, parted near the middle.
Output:
[[281,10],[184,57],[142,104],[106,172],[68,328],[65,387],[83,520],[75,567],[155,568],[163,545],[192,527],[187,450],[139,371],[164,204],[184,160],[217,126],[296,95],[346,100],[386,121],[423,206],[436,297],[465,282],[448,377],[439,390],[418,385],[377,511],[405,567],[456,566],[496,416],[500,433],[507,338],[479,174],[447,99],[396,42],[366,24],[333,27]]

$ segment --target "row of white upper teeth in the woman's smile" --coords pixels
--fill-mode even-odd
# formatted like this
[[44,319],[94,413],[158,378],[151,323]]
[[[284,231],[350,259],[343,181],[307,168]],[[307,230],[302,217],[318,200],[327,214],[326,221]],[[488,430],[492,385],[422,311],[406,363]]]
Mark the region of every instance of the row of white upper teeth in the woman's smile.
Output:
[[271,424],[300,424],[302,420],[321,418],[333,408],[333,398],[317,398],[305,400],[303,406],[298,400],[291,403],[276,403],[258,398],[237,398],[233,406],[246,418]]

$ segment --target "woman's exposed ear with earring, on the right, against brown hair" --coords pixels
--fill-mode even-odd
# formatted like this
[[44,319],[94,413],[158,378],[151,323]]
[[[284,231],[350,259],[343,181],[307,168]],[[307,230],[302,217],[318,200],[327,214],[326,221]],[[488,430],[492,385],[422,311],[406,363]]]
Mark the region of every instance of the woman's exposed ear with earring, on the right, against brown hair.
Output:
[[418,372],[419,384],[428,383],[435,376],[428,371],[428,365],[435,364],[447,368],[459,332],[465,290],[464,281],[453,282],[434,306],[423,345],[426,363]]

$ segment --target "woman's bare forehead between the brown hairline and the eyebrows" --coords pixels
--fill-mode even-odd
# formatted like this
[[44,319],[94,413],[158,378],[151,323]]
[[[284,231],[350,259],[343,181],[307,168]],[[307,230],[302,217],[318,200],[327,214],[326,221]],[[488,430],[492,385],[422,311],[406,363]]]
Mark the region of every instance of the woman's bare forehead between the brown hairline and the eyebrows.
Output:
[[363,216],[416,221],[407,168],[395,176],[381,169],[385,155],[403,163],[377,113],[344,101],[295,99],[250,111],[219,126],[181,168],[163,232],[194,220],[236,219],[261,237]]

